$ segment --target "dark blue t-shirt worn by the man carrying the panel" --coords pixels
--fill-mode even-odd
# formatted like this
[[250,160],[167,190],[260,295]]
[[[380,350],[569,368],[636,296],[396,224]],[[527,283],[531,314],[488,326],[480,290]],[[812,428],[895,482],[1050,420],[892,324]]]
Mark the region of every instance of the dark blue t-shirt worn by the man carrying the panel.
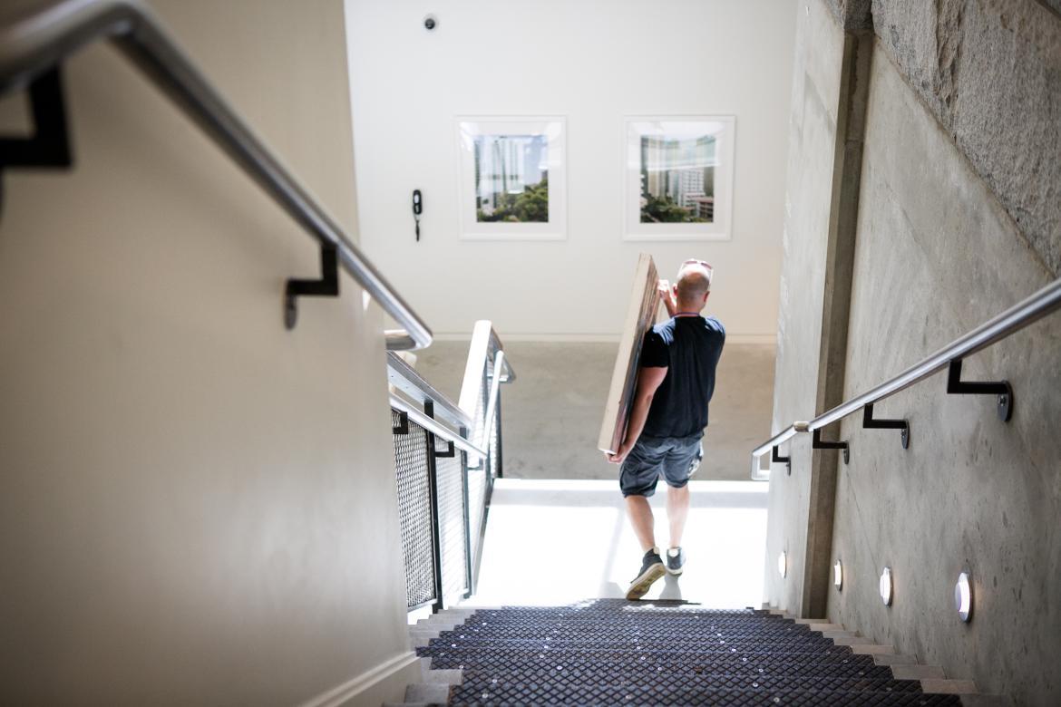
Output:
[[690,437],[708,426],[708,402],[715,392],[715,367],[726,330],[714,317],[672,317],[645,334],[643,368],[666,367],[643,435]]

